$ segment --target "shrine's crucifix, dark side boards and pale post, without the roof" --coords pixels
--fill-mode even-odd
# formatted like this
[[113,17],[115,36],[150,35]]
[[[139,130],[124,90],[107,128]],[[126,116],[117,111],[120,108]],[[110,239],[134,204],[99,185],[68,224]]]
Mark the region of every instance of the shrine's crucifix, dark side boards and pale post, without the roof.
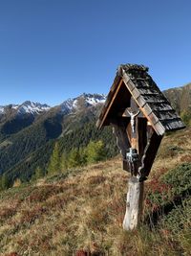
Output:
[[[125,230],[132,230],[141,221],[143,210],[144,180],[156,156],[161,136],[155,136],[154,129],[131,97],[130,105],[122,113],[126,123],[113,124],[117,146],[123,157],[123,170],[130,172],[126,198],[126,213],[123,221]],[[126,136],[126,139],[124,139]],[[155,142],[151,152],[150,143]],[[148,160],[149,158],[149,160]],[[145,162],[146,168],[145,169]],[[148,165],[150,162],[150,166]]]

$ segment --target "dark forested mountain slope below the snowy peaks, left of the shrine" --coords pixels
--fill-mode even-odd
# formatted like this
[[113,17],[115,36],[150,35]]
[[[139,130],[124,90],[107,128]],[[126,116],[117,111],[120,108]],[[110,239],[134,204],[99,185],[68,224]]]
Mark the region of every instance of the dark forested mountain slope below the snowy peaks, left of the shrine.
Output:
[[37,167],[47,173],[55,142],[60,155],[86,147],[91,140],[102,140],[107,158],[117,154],[116,139],[111,128],[98,130],[96,117],[100,106],[60,116],[57,112],[39,117],[32,126],[12,134],[1,144],[0,170],[7,175],[9,186],[16,178],[29,181]]

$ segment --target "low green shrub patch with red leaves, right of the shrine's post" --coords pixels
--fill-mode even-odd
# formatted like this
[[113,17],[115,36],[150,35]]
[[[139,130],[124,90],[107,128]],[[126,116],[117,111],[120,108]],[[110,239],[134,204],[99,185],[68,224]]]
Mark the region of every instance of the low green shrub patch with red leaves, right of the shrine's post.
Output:
[[[145,198],[145,214],[171,213],[191,195],[191,164],[184,163],[161,177],[154,177],[148,183]],[[180,210],[176,212],[180,216]],[[172,215],[172,218],[174,215]],[[169,215],[170,218],[170,215]]]

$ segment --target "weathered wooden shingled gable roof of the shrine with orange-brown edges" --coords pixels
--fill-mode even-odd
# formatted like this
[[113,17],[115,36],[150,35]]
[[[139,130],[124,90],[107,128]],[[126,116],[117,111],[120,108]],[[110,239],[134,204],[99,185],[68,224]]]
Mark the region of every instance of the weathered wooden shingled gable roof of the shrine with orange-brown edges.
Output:
[[125,84],[130,95],[137,102],[139,109],[158,135],[163,135],[165,131],[185,127],[176,111],[172,108],[168,100],[159,90],[155,81],[153,81],[148,74],[148,67],[143,65],[122,64],[117,68],[117,76],[99,115],[99,119],[96,123],[98,128],[109,125],[107,117],[111,116],[111,111],[114,111],[114,106],[112,108],[112,105],[115,103],[114,98],[117,94],[120,94],[118,96],[118,102],[120,102],[120,98],[123,102],[123,104],[119,104],[120,107],[128,107],[128,104],[125,105],[124,103],[124,93],[119,93],[119,91],[122,90],[121,84],[123,84],[123,86]]

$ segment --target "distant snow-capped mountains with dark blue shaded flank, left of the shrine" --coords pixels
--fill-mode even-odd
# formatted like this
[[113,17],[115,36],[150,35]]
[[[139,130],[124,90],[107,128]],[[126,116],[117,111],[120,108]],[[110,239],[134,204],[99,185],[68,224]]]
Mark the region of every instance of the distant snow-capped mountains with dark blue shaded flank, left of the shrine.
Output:
[[14,134],[43,119],[43,117],[49,119],[56,116],[62,119],[65,115],[101,104],[105,99],[104,95],[84,93],[53,107],[31,101],[26,101],[21,105],[0,106],[0,136]]

